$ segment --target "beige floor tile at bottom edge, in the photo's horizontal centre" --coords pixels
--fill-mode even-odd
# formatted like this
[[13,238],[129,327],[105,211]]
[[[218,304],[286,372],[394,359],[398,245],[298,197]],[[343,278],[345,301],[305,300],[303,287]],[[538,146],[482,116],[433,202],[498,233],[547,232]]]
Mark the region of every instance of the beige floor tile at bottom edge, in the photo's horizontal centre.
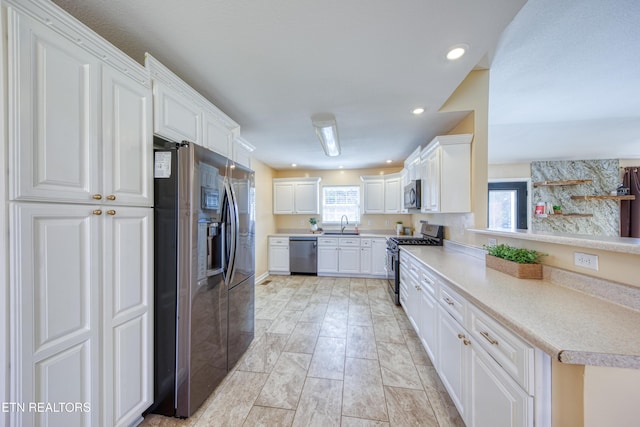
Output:
[[293,425],[339,426],[341,406],[342,381],[307,377]]

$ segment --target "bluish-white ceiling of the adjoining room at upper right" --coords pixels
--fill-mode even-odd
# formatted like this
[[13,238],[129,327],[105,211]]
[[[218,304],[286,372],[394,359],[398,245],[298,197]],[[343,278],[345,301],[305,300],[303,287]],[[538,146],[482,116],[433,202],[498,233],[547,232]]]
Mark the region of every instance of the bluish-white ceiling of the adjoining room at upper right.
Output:
[[529,0],[490,76],[490,162],[640,158],[640,1]]

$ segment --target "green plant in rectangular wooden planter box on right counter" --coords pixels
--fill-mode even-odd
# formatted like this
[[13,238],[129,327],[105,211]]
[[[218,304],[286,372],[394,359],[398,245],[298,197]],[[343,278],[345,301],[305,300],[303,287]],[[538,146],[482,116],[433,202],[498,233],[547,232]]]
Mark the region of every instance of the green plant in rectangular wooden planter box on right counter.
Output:
[[484,248],[487,250],[487,267],[519,279],[542,279],[540,257],[547,254],[505,244],[485,246]]

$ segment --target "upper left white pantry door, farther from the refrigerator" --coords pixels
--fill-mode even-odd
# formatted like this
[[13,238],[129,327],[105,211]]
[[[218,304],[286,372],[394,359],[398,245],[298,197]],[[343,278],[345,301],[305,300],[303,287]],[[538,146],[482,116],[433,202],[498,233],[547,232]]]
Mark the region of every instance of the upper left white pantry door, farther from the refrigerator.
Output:
[[10,19],[10,197],[92,203],[101,186],[99,64],[27,16]]

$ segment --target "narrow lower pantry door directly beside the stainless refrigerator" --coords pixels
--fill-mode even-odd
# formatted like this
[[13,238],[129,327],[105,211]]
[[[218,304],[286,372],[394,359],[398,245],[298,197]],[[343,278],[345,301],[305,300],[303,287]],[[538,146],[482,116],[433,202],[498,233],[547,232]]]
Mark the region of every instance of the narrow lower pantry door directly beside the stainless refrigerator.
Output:
[[130,425],[152,402],[153,210],[114,210],[104,217],[104,425]]

